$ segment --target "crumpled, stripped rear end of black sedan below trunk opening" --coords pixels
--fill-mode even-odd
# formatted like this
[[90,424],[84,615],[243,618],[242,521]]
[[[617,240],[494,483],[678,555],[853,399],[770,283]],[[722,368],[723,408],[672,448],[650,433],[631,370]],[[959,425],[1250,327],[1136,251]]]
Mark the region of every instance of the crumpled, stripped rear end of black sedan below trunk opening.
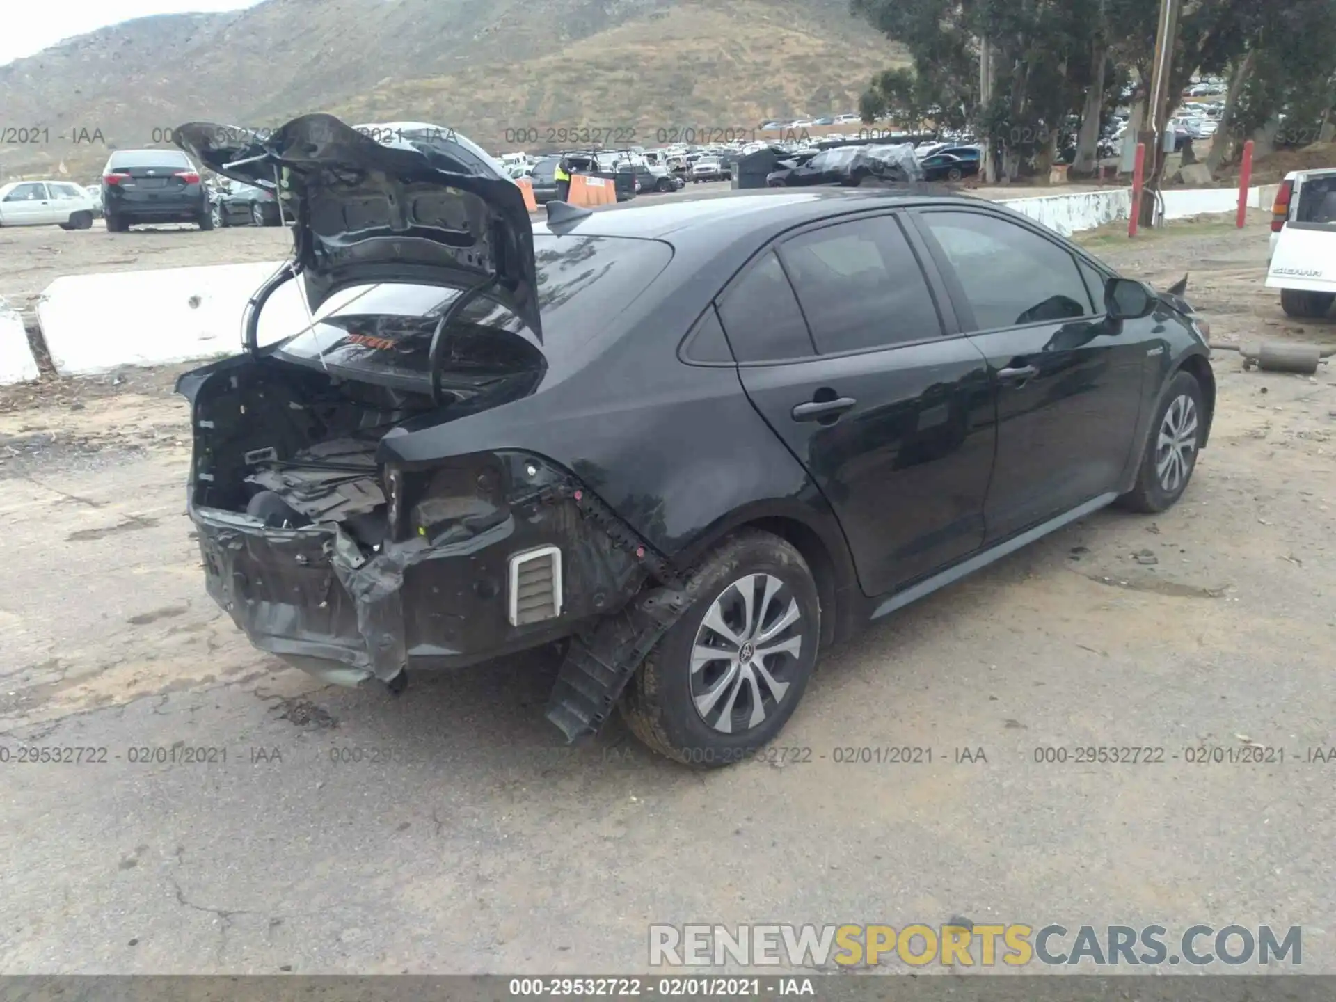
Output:
[[[436,541],[367,546],[337,522],[273,528],[192,504],[208,593],[255,647],[294,667],[342,685],[394,685],[410,667],[465,667],[593,636],[609,613],[624,619],[647,581],[673,580],[574,478],[534,457],[512,460],[536,476],[505,517]],[[545,561],[537,573],[534,554]],[[659,623],[636,621],[657,639]],[[627,677],[640,657],[619,665]]]

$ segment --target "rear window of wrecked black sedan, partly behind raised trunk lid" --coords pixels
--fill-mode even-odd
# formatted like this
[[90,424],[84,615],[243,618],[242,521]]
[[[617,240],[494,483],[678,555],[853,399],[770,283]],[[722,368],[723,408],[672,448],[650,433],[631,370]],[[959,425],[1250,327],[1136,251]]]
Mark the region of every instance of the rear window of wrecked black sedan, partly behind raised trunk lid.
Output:
[[[541,367],[544,357],[572,350],[625,310],[668,265],[672,250],[657,240],[534,234],[534,258],[542,345],[514,314],[480,297],[452,323],[442,382],[476,385]],[[407,283],[345,289],[275,357],[420,387],[429,374],[432,335],[458,295],[456,289]]]

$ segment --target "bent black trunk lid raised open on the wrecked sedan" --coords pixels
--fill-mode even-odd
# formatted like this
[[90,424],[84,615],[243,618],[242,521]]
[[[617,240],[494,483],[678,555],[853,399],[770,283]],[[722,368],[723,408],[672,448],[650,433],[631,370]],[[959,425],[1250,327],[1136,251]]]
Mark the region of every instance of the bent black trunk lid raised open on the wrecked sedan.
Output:
[[278,195],[313,313],[354,286],[444,286],[501,303],[541,342],[524,194],[454,130],[302,115],[274,132],[192,122],[174,140],[208,170]]

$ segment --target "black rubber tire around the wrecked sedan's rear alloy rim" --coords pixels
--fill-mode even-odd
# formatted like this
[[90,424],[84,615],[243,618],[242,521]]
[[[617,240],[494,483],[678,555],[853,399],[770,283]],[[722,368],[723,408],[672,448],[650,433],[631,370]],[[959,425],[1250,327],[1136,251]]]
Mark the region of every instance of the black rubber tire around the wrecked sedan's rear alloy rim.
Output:
[[[768,578],[778,580],[779,587],[771,601],[766,603]],[[751,609],[756,629],[752,632],[774,628],[796,608],[798,619],[770,639],[771,644],[782,644],[796,636],[796,653],[790,649],[766,655],[760,669],[745,669],[745,673],[739,669],[733,675],[733,663],[727,656],[705,661],[697,665],[699,671],[692,672],[692,652],[697,640],[704,639],[705,645],[711,647],[717,644],[725,653],[729,649],[723,633],[715,633],[704,625],[716,600],[725,609],[725,627],[744,625],[740,613],[747,607],[741,592],[735,587],[744,581],[754,585]],[[816,665],[820,601],[812,573],[802,554],[778,536],[755,529],[731,536],[715,548],[692,572],[687,593],[693,599],[691,607],[655,645],[627,685],[620,704],[621,715],[632,733],[653,751],[689,766],[717,768],[751,758],[783,729],[798,707]],[[766,608],[760,608],[763,605]],[[735,613],[739,619],[731,619]],[[744,639],[749,636],[747,631],[739,629],[739,633]],[[747,643],[740,649],[747,651],[749,659],[755,645]],[[784,687],[778,699],[767,675]],[[727,677],[736,681],[727,683]],[[751,679],[756,680],[755,689]],[[705,695],[701,689],[717,693],[704,715],[697,711],[695,701]],[[749,727],[758,693],[762,696],[764,719]],[[731,732],[717,728],[725,709],[731,711]],[[707,716],[713,720],[707,723]]]

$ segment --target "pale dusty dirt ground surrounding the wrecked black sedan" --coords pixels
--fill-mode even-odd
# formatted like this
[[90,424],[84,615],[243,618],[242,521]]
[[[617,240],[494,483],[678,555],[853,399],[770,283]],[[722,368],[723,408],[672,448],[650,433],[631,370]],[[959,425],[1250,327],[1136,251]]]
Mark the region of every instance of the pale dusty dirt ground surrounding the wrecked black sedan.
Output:
[[[1336,345],[1263,287],[1264,219],[1086,240],[1126,274],[1190,273],[1220,343]],[[281,238],[170,239],[202,263]],[[61,270],[180,257],[155,234],[41,239],[115,244]],[[24,257],[7,295],[53,259]],[[0,970],[615,973],[645,969],[651,922],[966,916],[1301,925],[1304,970],[1336,973],[1336,760],[1309,755],[1336,745],[1336,373],[1214,367],[1174,509],[1098,513],[896,613],[823,660],[780,741],[810,760],[708,775],[620,721],[562,747],[542,655],[399,697],[283,668],[204,595],[175,370],[0,391]],[[1257,743],[1284,762],[1229,760]],[[890,745],[935,756],[836,763]],[[1165,751],[1035,760],[1086,745]]]

